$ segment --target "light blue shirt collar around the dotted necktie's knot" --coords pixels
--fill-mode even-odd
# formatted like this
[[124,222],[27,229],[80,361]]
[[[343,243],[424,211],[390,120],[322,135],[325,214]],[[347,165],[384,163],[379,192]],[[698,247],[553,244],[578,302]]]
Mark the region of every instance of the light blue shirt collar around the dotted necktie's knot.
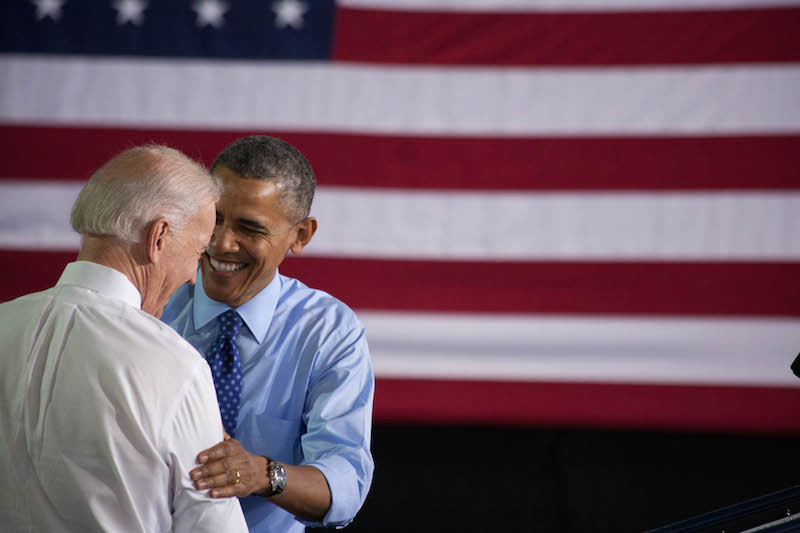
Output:
[[[236,308],[236,312],[242,317],[250,333],[260,343],[264,342],[267,330],[272,323],[272,316],[278,306],[278,298],[281,294],[281,279],[278,270],[269,285]],[[200,329],[219,315],[232,309],[228,304],[212,300],[203,288],[203,273],[198,270],[197,283],[194,285],[194,324],[196,329]]]

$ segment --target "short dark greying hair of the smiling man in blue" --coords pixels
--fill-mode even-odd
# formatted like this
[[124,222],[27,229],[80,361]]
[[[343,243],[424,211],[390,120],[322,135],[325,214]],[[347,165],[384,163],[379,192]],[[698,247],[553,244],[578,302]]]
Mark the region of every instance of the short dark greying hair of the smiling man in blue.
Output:
[[242,137],[220,152],[211,171],[219,166],[245,179],[275,182],[297,222],[311,211],[317,186],[314,171],[305,156],[286,141],[264,135]]

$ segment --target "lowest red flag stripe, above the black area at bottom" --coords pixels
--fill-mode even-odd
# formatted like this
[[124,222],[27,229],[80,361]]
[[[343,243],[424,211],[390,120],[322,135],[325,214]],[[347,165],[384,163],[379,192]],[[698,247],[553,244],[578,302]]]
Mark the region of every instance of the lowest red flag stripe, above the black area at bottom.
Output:
[[792,388],[379,378],[374,405],[378,422],[800,433]]

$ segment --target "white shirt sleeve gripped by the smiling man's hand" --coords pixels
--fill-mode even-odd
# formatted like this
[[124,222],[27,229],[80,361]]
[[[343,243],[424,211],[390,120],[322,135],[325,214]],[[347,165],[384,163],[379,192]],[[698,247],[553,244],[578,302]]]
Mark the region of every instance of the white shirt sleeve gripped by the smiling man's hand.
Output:
[[[176,381],[180,382],[179,378]],[[194,488],[189,472],[197,466],[197,454],[222,441],[222,419],[211,371],[198,361],[187,380],[175,414],[167,420],[162,437],[170,463],[173,531],[246,532],[238,498],[211,498]]]

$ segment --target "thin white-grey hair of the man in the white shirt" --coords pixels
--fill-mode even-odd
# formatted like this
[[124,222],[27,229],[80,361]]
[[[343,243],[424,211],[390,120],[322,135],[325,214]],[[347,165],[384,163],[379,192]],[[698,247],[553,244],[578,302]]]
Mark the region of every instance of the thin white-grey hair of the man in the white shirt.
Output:
[[95,171],[70,222],[82,235],[136,244],[161,217],[180,233],[208,197],[216,202],[221,192],[220,181],[196,161],[174,148],[148,144],[125,150]]

